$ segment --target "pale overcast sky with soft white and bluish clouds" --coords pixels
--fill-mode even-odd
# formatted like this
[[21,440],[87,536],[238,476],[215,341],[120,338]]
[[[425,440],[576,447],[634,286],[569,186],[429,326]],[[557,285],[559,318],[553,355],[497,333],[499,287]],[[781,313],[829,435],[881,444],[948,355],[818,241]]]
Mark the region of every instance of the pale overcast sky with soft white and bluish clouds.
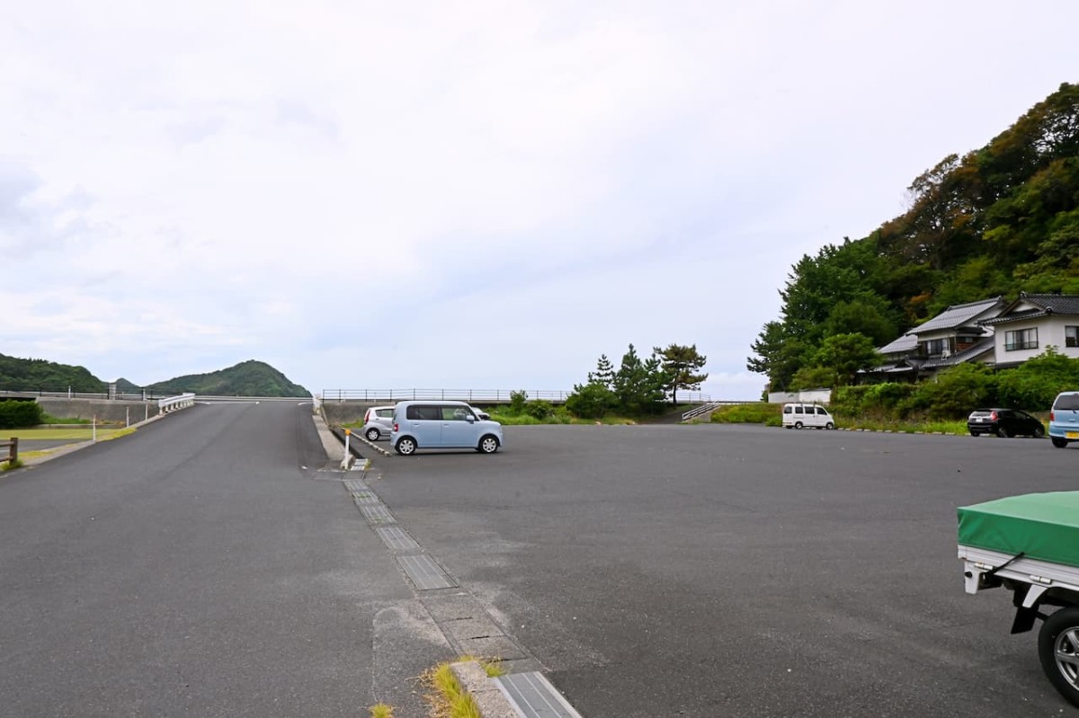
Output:
[[0,354],[755,399],[791,265],[1079,81],[1074,0],[9,3]]

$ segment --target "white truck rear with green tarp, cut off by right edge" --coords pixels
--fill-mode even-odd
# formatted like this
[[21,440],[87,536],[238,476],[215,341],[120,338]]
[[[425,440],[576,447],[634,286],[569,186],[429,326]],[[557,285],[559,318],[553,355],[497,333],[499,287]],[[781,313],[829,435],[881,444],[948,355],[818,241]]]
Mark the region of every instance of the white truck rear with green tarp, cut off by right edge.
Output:
[[1012,633],[1042,620],[1042,671],[1079,706],[1079,492],[1009,496],[958,514],[967,593],[1009,589]]

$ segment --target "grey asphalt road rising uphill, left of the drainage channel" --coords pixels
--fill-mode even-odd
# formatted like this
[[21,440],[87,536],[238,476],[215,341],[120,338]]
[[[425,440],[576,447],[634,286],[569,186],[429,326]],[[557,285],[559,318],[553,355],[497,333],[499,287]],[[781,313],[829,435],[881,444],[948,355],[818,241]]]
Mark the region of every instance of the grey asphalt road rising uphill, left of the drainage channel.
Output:
[[449,648],[325,464],[310,405],[200,405],[0,479],[0,715],[420,715]]

